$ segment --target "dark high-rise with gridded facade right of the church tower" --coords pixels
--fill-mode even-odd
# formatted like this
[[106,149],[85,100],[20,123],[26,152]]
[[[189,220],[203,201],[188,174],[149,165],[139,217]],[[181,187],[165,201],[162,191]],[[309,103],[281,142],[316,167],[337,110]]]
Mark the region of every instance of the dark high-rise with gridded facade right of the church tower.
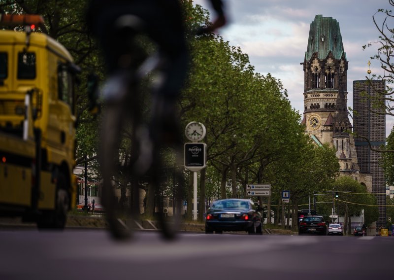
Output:
[[371,150],[379,150],[386,141],[386,115],[385,100],[381,98],[386,89],[385,81],[358,80],[353,81],[353,109],[354,132],[356,151],[360,170],[372,174],[372,193],[375,194],[379,206],[379,219],[377,227],[386,226],[386,180],[383,168],[379,161],[382,153]]

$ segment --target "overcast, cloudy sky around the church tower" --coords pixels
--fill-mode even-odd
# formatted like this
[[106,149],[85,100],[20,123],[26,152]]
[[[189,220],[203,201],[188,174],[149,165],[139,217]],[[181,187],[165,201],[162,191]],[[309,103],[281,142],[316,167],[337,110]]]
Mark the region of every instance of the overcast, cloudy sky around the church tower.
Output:
[[[212,9],[208,0],[194,0]],[[353,80],[365,79],[368,60],[376,46],[362,45],[378,39],[372,16],[378,8],[391,9],[389,0],[224,0],[229,15],[227,27],[219,34],[249,55],[256,72],[271,73],[288,90],[292,106],[303,113],[304,61],[309,27],[315,15],[332,17],[339,22],[344,51],[349,61],[347,71],[348,106],[353,107]],[[383,18],[375,16],[382,23]],[[393,28],[393,21],[389,25]],[[370,70],[382,74],[380,63],[371,60]],[[386,137],[394,125],[386,118]]]

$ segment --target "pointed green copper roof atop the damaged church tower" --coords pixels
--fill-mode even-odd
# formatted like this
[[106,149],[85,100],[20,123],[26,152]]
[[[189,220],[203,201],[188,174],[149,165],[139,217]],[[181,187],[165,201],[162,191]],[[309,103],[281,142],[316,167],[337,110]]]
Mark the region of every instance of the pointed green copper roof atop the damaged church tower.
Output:
[[329,51],[335,59],[341,59],[342,54],[345,55],[346,59],[339,23],[331,17],[316,15],[309,29],[305,59],[309,61],[315,52],[318,52],[319,59],[325,59]]

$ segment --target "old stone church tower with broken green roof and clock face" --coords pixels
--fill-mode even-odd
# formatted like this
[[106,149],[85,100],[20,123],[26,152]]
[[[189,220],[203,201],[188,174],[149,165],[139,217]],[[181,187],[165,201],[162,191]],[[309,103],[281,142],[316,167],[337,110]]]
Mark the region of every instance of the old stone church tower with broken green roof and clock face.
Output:
[[342,175],[350,175],[371,190],[371,176],[360,174],[353,126],[347,110],[348,61],[339,23],[316,15],[310,25],[304,62],[304,117],[306,133],[318,145],[336,149]]

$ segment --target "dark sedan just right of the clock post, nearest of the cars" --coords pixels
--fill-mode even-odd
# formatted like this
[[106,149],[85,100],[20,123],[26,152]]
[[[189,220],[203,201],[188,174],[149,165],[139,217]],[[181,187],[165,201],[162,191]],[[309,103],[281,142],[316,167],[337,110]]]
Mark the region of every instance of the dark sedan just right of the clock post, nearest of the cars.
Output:
[[221,199],[215,201],[207,212],[205,233],[247,231],[263,234],[262,216],[250,199]]

